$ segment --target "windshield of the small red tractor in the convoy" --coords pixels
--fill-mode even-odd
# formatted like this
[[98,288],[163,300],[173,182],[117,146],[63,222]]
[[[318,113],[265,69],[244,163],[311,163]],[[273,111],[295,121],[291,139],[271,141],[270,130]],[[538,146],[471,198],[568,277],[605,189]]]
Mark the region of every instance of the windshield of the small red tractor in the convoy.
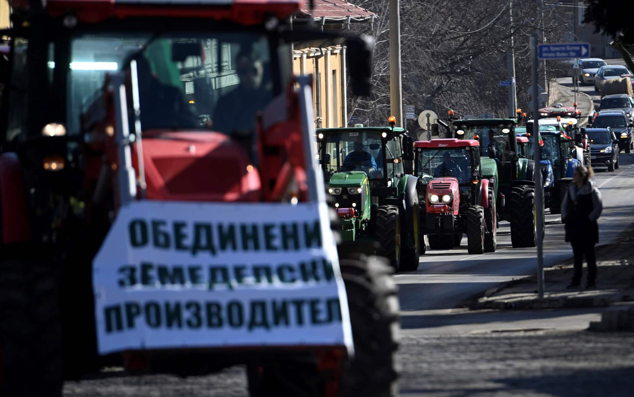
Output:
[[418,155],[418,176],[453,176],[458,183],[469,183],[472,152],[470,148],[422,148]]

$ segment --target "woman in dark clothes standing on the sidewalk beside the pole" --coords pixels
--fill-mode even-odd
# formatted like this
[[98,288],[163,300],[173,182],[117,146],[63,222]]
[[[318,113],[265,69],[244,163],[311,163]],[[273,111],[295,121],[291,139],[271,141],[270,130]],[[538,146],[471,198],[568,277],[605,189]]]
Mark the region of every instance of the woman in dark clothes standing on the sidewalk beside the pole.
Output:
[[598,191],[592,167],[578,166],[574,169],[573,182],[561,202],[561,214],[566,223],[566,241],[573,245],[574,275],[568,288],[578,287],[581,282],[583,257],[588,262],[588,284],[595,287],[597,259],[594,246],[598,243],[597,219],[603,210],[601,193]]

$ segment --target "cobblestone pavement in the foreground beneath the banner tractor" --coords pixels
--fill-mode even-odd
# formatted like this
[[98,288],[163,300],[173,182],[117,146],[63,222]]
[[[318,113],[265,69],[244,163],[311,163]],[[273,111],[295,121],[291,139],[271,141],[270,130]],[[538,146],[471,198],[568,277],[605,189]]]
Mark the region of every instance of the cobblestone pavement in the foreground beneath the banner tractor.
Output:
[[[634,333],[488,332],[404,336],[401,396],[632,396]],[[247,396],[242,368],[179,379],[69,382],[67,397]]]

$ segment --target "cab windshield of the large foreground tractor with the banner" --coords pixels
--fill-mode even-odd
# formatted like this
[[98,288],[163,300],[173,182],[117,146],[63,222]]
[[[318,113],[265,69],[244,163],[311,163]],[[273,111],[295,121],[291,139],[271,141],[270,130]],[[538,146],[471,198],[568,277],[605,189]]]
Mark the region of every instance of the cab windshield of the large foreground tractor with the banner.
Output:
[[[91,34],[71,43],[67,131],[102,93],[105,76],[138,68],[141,128],[252,136],[273,94],[268,39],[251,32]],[[49,67],[55,67],[49,62]],[[129,101],[131,103],[131,101]]]

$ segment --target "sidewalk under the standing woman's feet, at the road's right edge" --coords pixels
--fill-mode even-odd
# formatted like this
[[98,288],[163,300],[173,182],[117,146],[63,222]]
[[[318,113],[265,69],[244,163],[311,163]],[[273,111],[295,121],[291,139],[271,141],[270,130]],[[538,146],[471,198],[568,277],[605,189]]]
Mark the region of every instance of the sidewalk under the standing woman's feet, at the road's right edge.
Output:
[[[488,290],[470,309],[590,308],[634,301],[634,234],[621,242],[597,247],[597,288],[566,289],[573,277],[573,259],[544,270],[544,299],[537,297],[537,277],[529,276]],[[571,249],[572,255],[572,249]]]

